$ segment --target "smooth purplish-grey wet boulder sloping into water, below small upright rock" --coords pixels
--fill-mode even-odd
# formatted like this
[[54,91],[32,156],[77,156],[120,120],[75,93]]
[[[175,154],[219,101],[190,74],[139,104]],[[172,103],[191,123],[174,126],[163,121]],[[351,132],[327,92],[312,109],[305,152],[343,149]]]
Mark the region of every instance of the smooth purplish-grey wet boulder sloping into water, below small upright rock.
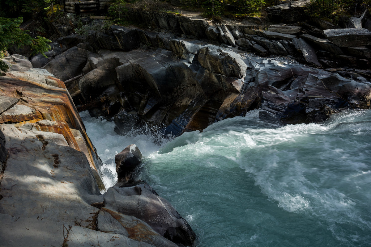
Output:
[[196,234],[171,204],[146,183],[132,187],[111,187],[104,196],[110,210],[134,216],[174,243],[193,246]]

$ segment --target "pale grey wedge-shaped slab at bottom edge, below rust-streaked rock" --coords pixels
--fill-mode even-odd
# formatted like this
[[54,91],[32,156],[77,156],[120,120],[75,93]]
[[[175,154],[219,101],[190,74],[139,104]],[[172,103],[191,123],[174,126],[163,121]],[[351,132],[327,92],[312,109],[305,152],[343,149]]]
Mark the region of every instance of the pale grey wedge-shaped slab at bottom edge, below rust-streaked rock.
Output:
[[79,226],[72,226],[69,230],[66,244],[73,247],[98,246],[98,244],[101,247],[153,247],[150,244],[138,242],[123,235],[104,233]]

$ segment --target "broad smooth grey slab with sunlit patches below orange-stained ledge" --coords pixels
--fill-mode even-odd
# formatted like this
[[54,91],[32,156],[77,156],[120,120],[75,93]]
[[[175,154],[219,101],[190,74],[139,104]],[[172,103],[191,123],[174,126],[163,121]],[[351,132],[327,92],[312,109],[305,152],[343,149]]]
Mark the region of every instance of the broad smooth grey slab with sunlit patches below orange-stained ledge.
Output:
[[45,141],[39,132],[8,124],[1,128],[9,157],[0,186],[0,213],[90,224],[87,220],[97,209],[86,198],[101,193],[85,154]]

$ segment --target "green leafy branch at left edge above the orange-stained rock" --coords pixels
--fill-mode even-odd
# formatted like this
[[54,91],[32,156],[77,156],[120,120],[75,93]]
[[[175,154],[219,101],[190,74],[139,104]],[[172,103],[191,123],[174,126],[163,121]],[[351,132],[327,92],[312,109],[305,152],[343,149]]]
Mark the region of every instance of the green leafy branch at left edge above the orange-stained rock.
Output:
[[[29,36],[25,31],[19,29],[22,23],[22,17],[17,19],[3,18],[0,17],[0,53],[3,56],[3,52],[7,50],[7,47],[16,45],[17,47],[29,46],[32,54],[35,55],[39,52],[44,54],[50,49],[47,43],[51,41],[37,36],[36,39]],[[45,55],[44,55],[45,56]],[[4,64],[0,64],[0,70],[7,69]]]

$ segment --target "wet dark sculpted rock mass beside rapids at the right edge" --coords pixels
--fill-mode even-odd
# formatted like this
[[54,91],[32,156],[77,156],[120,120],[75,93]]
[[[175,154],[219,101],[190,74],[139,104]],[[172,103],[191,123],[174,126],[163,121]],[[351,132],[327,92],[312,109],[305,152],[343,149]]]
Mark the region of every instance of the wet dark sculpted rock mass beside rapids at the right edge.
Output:
[[263,64],[247,90],[258,88],[260,108],[284,123],[323,121],[338,109],[370,107],[368,84],[301,65],[282,66],[274,61]]

